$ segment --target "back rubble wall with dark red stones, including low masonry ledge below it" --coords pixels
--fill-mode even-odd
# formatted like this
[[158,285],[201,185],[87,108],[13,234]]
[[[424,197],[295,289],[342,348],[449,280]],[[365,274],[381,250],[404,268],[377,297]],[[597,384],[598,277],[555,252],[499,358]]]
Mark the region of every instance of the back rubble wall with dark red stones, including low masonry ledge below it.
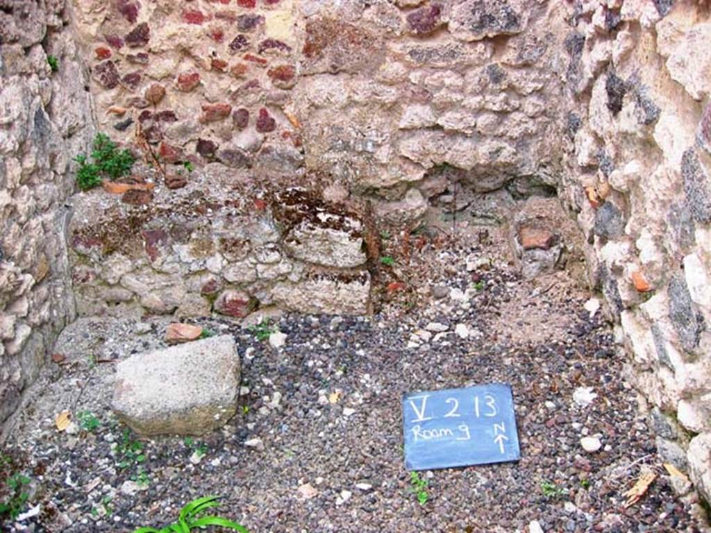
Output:
[[[237,316],[270,303],[366,313],[368,227],[416,220],[455,183],[555,183],[556,3],[118,0],[76,11],[101,129],[127,146],[140,130],[188,182],[169,190],[149,169],[155,193],[134,207],[77,195],[80,313],[224,313],[225,298],[243,303],[227,308]],[[188,176],[185,161],[198,170]],[[274,193],[295,186],[324,198],[284,222]],[[191,202],[215,210],[188,215]],[[110,244],[128,225],[130,253]],[[235,253],[225,237],[247,244]]]

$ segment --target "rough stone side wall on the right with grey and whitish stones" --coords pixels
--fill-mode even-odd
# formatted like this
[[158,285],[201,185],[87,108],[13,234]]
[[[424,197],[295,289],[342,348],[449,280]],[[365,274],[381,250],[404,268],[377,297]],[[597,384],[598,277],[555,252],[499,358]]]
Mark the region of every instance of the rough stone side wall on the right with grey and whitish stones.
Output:
[[658,449],[709,501],[711,11],[576,1],[567,20],[560,192],[653,404]]

